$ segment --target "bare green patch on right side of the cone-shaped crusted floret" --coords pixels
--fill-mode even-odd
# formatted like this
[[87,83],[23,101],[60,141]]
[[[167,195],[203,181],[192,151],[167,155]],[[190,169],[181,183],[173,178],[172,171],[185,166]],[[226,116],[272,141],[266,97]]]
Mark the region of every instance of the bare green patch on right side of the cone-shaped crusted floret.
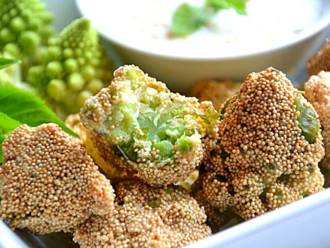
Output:
[[300,112],[297,120],[299,128],[302,130],[302,135],[305,136],[309,143],[313,144],[320,130],[320,122],[313,109],[307,108],[297,98],[294,98],[294,105],[296,111]]

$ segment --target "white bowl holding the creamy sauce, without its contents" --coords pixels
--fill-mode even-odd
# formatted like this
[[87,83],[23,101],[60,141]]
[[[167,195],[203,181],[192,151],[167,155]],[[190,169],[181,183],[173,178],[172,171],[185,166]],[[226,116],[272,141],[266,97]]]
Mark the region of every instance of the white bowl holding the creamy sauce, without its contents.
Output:
[[[129,24],[123,23],[134,21],[130,19],[127,10],[136,6],[123,9],[116,1],[76,0],[81,14],[91,19],[93,26],[111,42],[125,64],[139,66],[150,76],[165,82],[171,90],[182,93],[189,92],[191,86],[201,79],[226,78],[243,81],[250,72],[261,71],[270,66],[293,78],[301,71],[298,68],[305,66],[307,59],[317,51],[328,35],[330,1],[324,0],[321,3],[322,8],[317,13],[314,24],[291,38],[262,43],[252,48],[248,48],[249,44],[246,44],[246,49],[241,46],[242,49],[237,52],[220,52],[200,43],[200,46],[187,52],[183,51],[185,45],[180,47],[169,42],[142,40],[135,36],[132,33],[134,25],[130,29]],[[285,6],[283,8],[285,10]],[[300,7],[297,12],[299,10]],[[116,15],[117,21],[111,21],[110,17],[114,13],[120,13]],[[272,28],[276,29],[276,26]],[[123,33],[127,35],[122,36]],[[128,35],[130,33],[131,36]]]

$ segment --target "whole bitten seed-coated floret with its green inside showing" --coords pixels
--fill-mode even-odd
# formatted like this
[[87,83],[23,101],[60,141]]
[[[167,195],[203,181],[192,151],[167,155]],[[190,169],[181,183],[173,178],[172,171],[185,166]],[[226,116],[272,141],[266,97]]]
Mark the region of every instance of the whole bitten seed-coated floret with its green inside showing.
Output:
[[130,65],[85,102],[80,117],[106,161],[138,172],[150,185],[165,185],[184,180],[200,164],[202,140],[217,137],[219,115],[211,102],[170,92]]

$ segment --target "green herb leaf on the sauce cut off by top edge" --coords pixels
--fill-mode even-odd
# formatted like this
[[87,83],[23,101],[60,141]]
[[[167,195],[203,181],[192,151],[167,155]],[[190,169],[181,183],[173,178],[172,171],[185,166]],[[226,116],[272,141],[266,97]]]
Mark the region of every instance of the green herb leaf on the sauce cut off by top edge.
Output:
[[247,0],[206,0],[205,6],[214,11],[221,9],[234,9],[240,15],[246,15]]

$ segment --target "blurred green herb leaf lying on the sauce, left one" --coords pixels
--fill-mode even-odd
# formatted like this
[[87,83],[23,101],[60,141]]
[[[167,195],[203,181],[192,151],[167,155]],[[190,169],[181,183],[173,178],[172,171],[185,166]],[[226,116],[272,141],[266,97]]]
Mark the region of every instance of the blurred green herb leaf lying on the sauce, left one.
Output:
[[183,3],[173,15],[171,35],[190,35],[200,27],[206,25],[211,18],[212,15],[205,8]]

